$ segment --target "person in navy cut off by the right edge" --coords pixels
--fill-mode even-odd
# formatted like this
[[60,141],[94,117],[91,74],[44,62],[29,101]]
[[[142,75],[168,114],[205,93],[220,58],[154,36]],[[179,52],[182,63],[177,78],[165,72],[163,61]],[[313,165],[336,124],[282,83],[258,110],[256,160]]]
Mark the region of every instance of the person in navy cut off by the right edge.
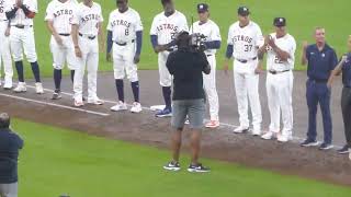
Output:
[[343,89],[341,93],[341,109],[344,126],[347,144],[338,150],[340,154],[349,153],[351,160],[351,35],[348,39],[348,54],[343,55],[337,68],[332,71],[328,86],[331,86],[333,79],[342,73]]

